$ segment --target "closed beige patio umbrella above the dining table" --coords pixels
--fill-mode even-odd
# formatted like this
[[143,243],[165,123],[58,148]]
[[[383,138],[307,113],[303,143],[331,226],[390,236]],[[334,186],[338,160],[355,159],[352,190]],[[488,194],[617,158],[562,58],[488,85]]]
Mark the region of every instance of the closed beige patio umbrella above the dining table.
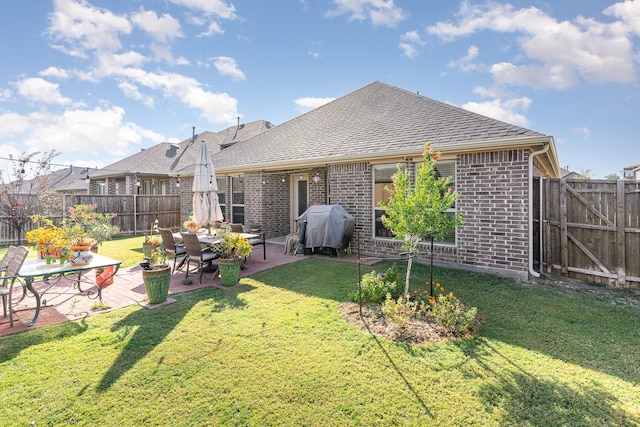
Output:
[[196,159],[193,176],[193,219],[201,225],[223,221],[222,210],[218,202],[218,184],[216,172],[211,163],[207,143],[200,143],[200,152]]

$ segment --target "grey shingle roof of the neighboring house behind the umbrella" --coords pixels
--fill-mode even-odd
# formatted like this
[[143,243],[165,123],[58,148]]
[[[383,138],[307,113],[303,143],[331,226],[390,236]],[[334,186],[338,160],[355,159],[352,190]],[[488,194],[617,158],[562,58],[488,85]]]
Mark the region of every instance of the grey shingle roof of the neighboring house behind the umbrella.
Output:
[[152,147],[119,160],[97,171],[91,171],[91,178],[137,175],[174,175],[184,169],[185,173],[193,173],[193,165],[200,148],[200,141],[205,141],[209,153],[220,151],[221,145],[231,145],[238,141],[253,137],[260,132],[272,128],[265,120],[231,126],[220,132],[205,131],[191,136],[178,144],[162,142]]

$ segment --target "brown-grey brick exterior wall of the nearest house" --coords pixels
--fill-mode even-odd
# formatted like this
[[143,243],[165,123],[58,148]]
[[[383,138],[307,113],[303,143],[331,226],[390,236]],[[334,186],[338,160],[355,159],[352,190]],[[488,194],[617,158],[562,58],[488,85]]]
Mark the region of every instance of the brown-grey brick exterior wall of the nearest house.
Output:
[[[459,155],[456,161],[457,210],[465,224],[456,245],[435,244],[436,263],[459,265],[490,273],[524,278],[528,271],[528,157],[526,150]],[[405,161],[414,171],[414,162]],[[267,237],[290,232],[292,171],[244,175],[245,223],[262,225]],[[313,177],[320,175],[320,183]],[[309,172],[309,203],[340,204],[356,220],[363,254],[399,256],[400,242],[374,238],[373,167],[366,162],[329,165]],[[226,199],[231,200],[227,177]],[[283,182],[284,181],[284,182]],[[191,210],[190,178],[181,179],[182,221]],[[227,206],[230,209],[230,206]],[[356,249],[356,235],[351,240]],[[420,245],[419,259],[427,261],[429,243]]]

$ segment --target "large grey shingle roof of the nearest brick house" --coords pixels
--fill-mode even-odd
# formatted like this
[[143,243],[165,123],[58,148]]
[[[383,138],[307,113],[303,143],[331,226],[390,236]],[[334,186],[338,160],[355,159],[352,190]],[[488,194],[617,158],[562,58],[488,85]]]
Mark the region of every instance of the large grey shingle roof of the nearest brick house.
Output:
[[[549,141],[553,145],[539,132],[374,82],[212,158],[216,171],[231,173],[415,155],[425,142],[444,154]],[[555,145],[551,151],[548,166],[557,176]]]

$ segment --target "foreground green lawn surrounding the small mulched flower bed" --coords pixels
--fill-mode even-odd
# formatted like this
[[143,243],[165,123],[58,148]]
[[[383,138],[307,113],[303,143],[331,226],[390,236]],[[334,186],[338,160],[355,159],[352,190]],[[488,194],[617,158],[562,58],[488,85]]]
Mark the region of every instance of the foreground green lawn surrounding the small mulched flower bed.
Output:
[[[428,267],[415,267],[412,277],[412,286],[424,283]],[[478,307],[485,322],[477,337],[418,347],[361,332],[337,313],[355,288],[356,266],[318,259],[230,290],[180,294],[161,309],[131,306],[8,336],[0,339],[0,419],[640,424],[637,308],[469,272],[438,269],[435,279]]]

